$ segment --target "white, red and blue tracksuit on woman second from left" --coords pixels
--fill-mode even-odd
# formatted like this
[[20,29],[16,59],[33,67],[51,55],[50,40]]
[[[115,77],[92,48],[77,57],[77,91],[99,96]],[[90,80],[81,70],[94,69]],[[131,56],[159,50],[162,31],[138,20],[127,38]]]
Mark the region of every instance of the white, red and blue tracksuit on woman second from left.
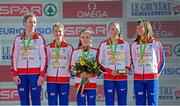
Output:
[[53,62],[56,60],[55,40],[46,46],[48,57],[47,70],[47,91],[49,105],[57,105],[57,97],[59,95],[59,104],[68,105],[69,102],[69,81],[70,81],[70,57],[73,47],[64,39],[60,46],[59,63],[60,67],[53,67]]

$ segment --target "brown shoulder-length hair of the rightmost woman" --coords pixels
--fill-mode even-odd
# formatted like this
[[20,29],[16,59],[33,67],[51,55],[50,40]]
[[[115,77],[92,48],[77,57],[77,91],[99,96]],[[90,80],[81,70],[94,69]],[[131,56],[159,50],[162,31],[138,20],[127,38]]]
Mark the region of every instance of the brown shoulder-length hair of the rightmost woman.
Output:
[[[153,37],[153,30],[152,30],[152,26],[150,24],[150,22],[148,20],[138,20],[137,21],[137,26],[138,25],[142,25],[145,28],[145,39],[149,40],[149,39],[154,39]],[[139,41],[141,39],[140,35],[137,34],[137,38],[134,41]]]

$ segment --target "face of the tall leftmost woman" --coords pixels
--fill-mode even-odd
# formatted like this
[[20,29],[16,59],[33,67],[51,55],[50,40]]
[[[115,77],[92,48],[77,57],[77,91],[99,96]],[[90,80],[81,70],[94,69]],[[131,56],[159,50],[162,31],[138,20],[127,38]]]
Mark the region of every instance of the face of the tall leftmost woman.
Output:
[[34,31],[34,29],[36,28],[36,18],[29,17],[24,23],[24,25],[28,31]]

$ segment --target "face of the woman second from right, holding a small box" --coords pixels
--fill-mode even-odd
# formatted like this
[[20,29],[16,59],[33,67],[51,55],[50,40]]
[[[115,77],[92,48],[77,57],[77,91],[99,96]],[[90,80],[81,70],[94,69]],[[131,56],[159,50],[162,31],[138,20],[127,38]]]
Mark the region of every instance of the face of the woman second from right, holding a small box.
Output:
[[111,38],[115,38],[119,35],[120,29],[119,29],[119,25],[117,24],[112,24],[109,28],[109,35]]

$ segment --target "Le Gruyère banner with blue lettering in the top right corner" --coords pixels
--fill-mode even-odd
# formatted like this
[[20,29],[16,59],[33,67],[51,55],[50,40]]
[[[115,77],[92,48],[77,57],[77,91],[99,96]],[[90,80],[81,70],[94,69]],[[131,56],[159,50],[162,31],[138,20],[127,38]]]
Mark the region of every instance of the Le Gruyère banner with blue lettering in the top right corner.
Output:
[[128,17],[175,17],[179,16],[179,0],[128,0]]

